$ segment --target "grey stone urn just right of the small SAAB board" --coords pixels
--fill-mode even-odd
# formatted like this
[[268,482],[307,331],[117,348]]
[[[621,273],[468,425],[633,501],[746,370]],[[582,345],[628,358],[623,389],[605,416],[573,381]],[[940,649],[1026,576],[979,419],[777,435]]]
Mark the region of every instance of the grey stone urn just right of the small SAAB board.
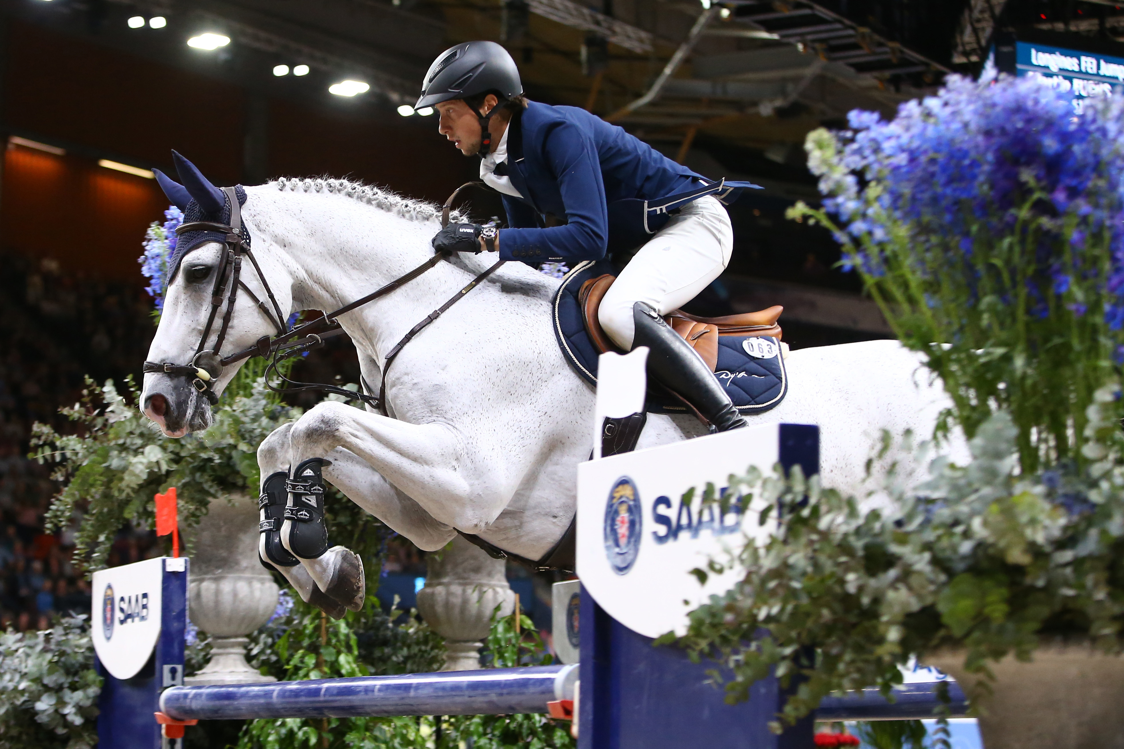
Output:
[[257,560],[257,502],[245,494],[212,499],[191,536],[188,616],[211,635],[211,659],[185,684],[275,682],[246,662],[247,634],[277,610],[278,586]]

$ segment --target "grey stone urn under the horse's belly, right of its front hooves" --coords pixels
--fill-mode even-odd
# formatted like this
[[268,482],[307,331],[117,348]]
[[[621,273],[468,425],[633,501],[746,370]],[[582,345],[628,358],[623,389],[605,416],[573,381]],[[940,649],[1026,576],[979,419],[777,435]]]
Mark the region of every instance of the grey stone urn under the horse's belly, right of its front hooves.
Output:
[[500,615],[515,611],[515,594],[507,584],[506,562],[492,559],[460,535],[426,558],[425,587],[418,592],[418,611],[445,638],[443,671],[480,668],[481,640],[488,637],[496,606]]

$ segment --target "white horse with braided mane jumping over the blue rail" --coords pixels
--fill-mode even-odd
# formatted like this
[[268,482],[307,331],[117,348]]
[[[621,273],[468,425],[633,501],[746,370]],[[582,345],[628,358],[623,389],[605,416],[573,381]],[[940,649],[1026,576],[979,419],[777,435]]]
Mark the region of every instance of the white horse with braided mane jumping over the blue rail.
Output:
[[[246,191],[242,218],[285,314],[335,309],[433,255],[439,211],[432,205],[343,180],[279,180]],[[191,361],[220,249],[205,244],[184,258],[149,361]],[[366,382],[379,382],[380,362],[407,331],[492,262],[487,254],[442,261],[342,316]],[[242,278],[265,298],[253,273]],[[552,331],[558,286],[533,268],[507,263],[402,350],[387,378],[389,417],[320,403],[262,443],[262,477],[326,458],[327,481],[420,549],[441,549],[459,530],[542,558],[573,517],[577,467],[589,458],[593,433],[593,388],[568,366]],[[220,353],[272,333],[241,295]],[[843,490],[862,481],[881,430],[927,437],[949,405],[917,354],[896,341],[798,350],[787,368],[787,398],[751,422],[819,424],[823,480]],[[226,369],[216,391],[236,370]],[[145,374],[142,406],[172,437],[211,422],[210,405],[182,377]],[[704,432],[692,417],[651,416],[638,449]],[[306,601],[309,578],[332,594],[342,553],[350,552],[336,547],[302,560],[303,569],[283,571]]]

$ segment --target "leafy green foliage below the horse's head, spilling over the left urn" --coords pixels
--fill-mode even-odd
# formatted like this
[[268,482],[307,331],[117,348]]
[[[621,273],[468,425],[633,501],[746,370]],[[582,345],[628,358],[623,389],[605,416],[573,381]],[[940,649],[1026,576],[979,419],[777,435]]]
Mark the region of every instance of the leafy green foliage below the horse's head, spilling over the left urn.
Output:
[[129,398],[111,380],[99,388],[87,379],[82,400],[62,409],[80,427],[79,434],[33,426],[33,457],[54,463],[52,478],[64,486],[47,513],[48,530],[66,527],[75,507],[84,513],[75,535],[75,561],[91,569],[105,567],[121,527],[153,526],[153,495],[170,486],[176,487],[180,522],[189,526],[207,514],[212,498],[256,493],[257,445],[301,410],[278,403],[263,379],[246,385],[245,395],[228,388],[209,430],[179,440],[163,436],[144,416],[132,378]]

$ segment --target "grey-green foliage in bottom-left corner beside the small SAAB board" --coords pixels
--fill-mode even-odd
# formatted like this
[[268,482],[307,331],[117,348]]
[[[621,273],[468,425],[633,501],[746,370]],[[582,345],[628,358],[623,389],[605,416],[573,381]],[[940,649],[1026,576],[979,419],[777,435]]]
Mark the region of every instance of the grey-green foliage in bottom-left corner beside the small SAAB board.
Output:
[[90,749],[101,677],[87,616],[0,634],[0,749]]

